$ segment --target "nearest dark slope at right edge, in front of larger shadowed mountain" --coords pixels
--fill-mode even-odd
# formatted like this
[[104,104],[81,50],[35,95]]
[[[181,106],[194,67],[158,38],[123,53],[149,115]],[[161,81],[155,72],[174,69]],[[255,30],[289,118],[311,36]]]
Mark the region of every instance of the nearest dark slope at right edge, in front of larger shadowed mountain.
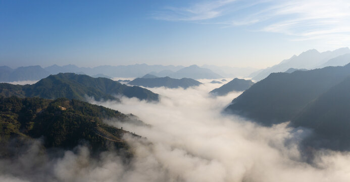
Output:
[[291,125],[311,128],[306,143],[316,148],[350,150],[350,77],[311,102]]

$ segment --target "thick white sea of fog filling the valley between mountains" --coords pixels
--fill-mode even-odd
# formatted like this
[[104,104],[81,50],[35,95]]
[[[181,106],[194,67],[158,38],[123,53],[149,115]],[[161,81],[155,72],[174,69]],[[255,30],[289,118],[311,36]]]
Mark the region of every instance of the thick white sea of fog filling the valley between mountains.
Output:
[[239,93],[213,97],[221,84],[182,89],[148,88],[160,102],[121,97],[103,105],[132,113],[151,125],[105,122],[135,132],[124,135],[134,157],[123,162],[115,151],[90,156],[86,146],[41,153],[42,140],[24,146],[18,157],[0,160],[0,181],[348,181],[350,153],[314,151],[306,162],[299,143],[312,131],[288,123],[263,127],[222,113]]

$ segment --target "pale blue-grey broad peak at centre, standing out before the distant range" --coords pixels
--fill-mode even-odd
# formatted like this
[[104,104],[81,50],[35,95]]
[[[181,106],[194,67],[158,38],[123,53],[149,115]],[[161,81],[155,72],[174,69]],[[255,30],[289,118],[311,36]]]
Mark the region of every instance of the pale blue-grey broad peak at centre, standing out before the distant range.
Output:
[[206,68],[199,68],[197,65],[192,65],[189,67],[185,67],[180,69],[179,71],[176,71],[172,75],[169,75],[172,78],[193,78],[193,79],[217,79],[222,78],[217,73],[214,73],[210,69]]

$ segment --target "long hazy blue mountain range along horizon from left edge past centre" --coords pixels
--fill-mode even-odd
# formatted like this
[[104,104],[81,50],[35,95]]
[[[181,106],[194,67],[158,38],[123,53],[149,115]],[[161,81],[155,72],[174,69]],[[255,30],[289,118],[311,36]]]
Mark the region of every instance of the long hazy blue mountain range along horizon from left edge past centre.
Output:
[[27,66],[12,69],[8,66],[0,66],[0,81],[12,82],[12,81],[26,81],[26,80],[39,80],[47,77],[50,74],[58,73],[76,73],[86,74],[92,77],[141,77],[145,74],[151,74],[158,77],[169,76],[172,78],[193,78],[193,79],[216,79],[222,76],[213,72],[210,69],[200,68],[196,65],[189,67],[183,66],[163,66],[163,65],[147,65],[147,64],[135,64],[135,65],[120,65],[120,66],[97,66],[93,68],[78,67],[76,65],[58,66],[52,65],[45,68],[40,66]]

